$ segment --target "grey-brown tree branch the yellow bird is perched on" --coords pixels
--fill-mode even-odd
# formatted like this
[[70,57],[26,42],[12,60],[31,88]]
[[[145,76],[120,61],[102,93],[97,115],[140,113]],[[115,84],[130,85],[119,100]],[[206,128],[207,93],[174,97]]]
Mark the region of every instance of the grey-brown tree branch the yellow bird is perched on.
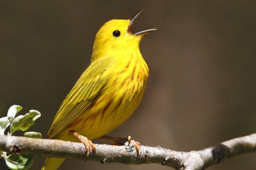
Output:
[[[190,152],[179,152],[160,146],[141,146],[139,154],[132,143],[129,146],[95,144],[95,147],[96,153],[90,152],[88,160],[123,164],[156,163],[177,170],[202,170],[234,156],[256,152],[256,133]],[[34,156],[86,159],[84,144],[52,139],[0,135],[0,150]]]

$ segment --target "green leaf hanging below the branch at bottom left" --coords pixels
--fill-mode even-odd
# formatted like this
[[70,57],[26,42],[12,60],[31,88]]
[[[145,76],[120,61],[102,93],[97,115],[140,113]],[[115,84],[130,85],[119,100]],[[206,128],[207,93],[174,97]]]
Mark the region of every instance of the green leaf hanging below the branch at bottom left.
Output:
[[6,165],[12,170],[28,170],[33,164],[33,156],[26,154],[4,155]]

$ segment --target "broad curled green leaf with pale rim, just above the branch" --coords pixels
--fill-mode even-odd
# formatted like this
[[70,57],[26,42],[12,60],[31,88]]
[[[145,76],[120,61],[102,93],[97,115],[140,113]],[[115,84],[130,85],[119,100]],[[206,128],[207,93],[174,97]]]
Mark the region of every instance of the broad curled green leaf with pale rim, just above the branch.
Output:
[[39,111],[30,110],[25,115],[20,115],[13,119],[10,130],[13,134],[16,130],[27,130],[31,125],[34,125],[35,120],[41,116]]

